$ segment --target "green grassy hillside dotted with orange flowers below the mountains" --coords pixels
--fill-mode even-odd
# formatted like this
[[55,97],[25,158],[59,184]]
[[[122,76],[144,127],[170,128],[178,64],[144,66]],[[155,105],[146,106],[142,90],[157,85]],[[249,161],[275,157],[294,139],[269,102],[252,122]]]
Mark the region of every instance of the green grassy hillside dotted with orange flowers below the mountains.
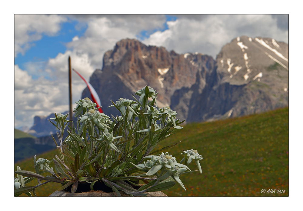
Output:
[[[202,174],[180,176],[179,184],[163,191],[168,196],[288,196],[288,107],[246,117],[209,123],[192,123],[159,143],[180,161],[182,150],[196,149]],[[55,151],[37,156],[51,159]],[[34,171],[32,159],[15,164]],[[194,162],[189,166],[195,170]],[[48,185],[48,186],[47,186]],[[36,190],[48,196],[60,187],[47,184]],[[261,190],[275,189],[275,193]],[[285,190],[285,193],[277,193]]]

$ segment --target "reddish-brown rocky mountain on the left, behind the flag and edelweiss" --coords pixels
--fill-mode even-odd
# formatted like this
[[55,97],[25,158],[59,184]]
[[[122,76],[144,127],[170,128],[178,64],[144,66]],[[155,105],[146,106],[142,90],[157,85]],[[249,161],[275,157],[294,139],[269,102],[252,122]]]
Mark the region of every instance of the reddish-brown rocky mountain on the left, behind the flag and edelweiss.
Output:
[[[103,68],[93,73],[90,83],[99,94],[104,113],[117,115],[115,108],[108,108],[110,100],[133,99],[132,94],[148,85],[159,93],[158,106],[169,106],[176,90],[190,88],[196,82],[197,72],[213,64],[210,56],[184,56],[168,52],[164,47],[125,39],[119,41],[114,50],[105,53]],[[90,94],[86,88],[82,98],[87,96]]]

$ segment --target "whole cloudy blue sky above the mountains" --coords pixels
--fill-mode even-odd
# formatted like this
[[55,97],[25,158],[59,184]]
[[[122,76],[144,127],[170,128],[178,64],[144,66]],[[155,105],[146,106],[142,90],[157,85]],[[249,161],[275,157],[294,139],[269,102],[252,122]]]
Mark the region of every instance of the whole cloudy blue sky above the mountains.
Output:
[[[238,36],[288,43],[288,15],[15,15],[15,127],[68,110],[67,59],[89,79],[121,39],[216,57]],[[73,74],[73,101],[85,84]]]

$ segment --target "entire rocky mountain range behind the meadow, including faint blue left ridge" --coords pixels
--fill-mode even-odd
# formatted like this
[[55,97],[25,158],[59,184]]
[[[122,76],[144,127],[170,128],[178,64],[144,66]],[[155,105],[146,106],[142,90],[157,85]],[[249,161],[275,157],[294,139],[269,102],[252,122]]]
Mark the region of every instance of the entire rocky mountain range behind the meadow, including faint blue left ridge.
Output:
[[[288,106],[288,44],[241,36],[213,59],[124,39],[104,54],[103,67],[95,70],[90,83],[107,115],[121,115],[108,108],[110,100],[133,99],[145,85],[159,93],[158,107],[170,106],[186,122],[261,113]],[[85,97],[90,97],[88,88]],[[54,133],[47,118],[35,117],[32,135]]]

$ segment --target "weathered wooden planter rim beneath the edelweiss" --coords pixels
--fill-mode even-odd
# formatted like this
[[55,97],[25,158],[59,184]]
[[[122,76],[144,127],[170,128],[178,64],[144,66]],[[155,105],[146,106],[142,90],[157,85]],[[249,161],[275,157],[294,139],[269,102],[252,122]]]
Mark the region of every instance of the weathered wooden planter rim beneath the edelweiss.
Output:
[[[128,197],[128,194],[124,192],[120,192],[122,197]],[[66,191],[55,191],[50,197],[117,197],[117,194],[115,192],[113,193],[105,193],[101,190],[99,191],[91,191],[91,192],[83,192],[83,193],[70,193]],[[161,191],[156,191],[156,192],[147,192],[148,197],[165,197],[167,196]]]

